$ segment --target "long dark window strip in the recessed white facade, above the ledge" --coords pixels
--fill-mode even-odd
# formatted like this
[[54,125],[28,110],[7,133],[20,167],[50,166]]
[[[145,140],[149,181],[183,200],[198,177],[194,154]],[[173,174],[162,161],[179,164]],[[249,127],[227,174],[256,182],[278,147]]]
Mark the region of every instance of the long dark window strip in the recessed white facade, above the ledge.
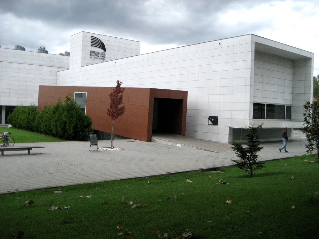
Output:
[[259,120],[290,120],[291,106],[254,103],[253,119]]

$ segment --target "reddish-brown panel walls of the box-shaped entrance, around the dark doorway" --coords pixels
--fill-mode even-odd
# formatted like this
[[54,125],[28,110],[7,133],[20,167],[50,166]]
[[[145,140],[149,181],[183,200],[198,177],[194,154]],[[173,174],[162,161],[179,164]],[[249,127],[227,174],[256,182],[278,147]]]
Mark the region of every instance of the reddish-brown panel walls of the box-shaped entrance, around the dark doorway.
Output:
[[[93,122],[93,128],[103,132],[112,131],[112,120],[107,115],[110,105],[109,94],[113,87],[80,87],[80,86],[39,86],[39,104],[41,110],[44,105],[54,105],[60,98],[62,101],[69,93],[86,92],[86,114]],[[151,141],[153,103],[156,98],[174,98],[183,100],[182,119],[177,122],[179,134],[186,131],[187,91],[173,91],[150,88],[125,88],[123,105],[125,112],[115,120],[114,134],[141,141]]]

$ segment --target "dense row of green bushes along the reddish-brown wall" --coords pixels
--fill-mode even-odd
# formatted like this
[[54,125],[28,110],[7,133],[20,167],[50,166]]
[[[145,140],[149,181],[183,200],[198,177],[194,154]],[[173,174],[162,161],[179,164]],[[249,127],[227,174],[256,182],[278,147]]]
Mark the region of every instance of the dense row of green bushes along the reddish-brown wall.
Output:
[[70,95],[64,104],[59,100],[54,106],[45,105],[41,112],[36,106],[18,106],[9,115],[13,127],[50,134],[65,140],[86,140],[93,133],[90,116]]

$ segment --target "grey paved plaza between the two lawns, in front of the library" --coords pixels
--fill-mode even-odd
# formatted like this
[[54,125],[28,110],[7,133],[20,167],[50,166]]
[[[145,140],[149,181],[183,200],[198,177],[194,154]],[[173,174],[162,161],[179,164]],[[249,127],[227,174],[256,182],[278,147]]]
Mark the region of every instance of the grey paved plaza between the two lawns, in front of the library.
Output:
[[[171,143],[175,141],[174,143]],[[167,144],[168,143],[168,144]],[[304,135],[294,131],[280,153],[281,141],[262,143],[259,160],[274,160],[307,154]],[[110,147],[109,140],[98,147]],[[171,144],[171,145],[169,145]],[[20,143],[19,145],[33,145]],[[123,150],[89,151],[88,141],[34,143],[45,148],[4,152],[0,156],[0,193],[163,175],[232,165],[238,159],[231,144],[194,140],[185,137],[163,138],[156,142],[114,140]]]

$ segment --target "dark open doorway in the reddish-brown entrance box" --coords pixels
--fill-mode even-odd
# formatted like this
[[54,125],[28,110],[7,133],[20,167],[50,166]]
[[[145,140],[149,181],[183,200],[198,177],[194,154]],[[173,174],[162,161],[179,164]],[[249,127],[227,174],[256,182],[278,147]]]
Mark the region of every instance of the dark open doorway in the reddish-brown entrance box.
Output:
[[183,100],[154,98],[152,133],[182,134]]

